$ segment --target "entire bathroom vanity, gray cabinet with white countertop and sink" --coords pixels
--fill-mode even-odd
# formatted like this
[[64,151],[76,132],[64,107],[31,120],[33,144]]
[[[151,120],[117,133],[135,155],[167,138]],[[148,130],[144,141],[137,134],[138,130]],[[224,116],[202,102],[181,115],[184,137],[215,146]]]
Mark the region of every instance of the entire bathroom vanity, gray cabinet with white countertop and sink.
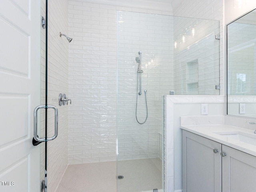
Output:
[[255,192],[256,134],[228,125],[182,128],[183,192]]

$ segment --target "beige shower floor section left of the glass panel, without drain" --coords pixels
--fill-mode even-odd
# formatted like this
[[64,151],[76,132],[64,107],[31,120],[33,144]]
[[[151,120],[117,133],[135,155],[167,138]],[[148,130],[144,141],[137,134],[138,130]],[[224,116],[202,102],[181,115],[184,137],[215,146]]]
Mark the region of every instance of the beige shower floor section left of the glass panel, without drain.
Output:
[[56,192],[116,192],[116,162],[70,164]]

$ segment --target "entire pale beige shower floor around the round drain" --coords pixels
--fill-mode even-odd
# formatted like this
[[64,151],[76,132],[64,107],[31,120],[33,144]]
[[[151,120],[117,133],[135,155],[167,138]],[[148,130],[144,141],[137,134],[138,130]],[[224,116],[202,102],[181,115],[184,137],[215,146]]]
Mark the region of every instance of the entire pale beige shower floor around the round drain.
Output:
[[56,192],[143,192],[162,189],[162,160],[159,158],[116,162],[70,164]]

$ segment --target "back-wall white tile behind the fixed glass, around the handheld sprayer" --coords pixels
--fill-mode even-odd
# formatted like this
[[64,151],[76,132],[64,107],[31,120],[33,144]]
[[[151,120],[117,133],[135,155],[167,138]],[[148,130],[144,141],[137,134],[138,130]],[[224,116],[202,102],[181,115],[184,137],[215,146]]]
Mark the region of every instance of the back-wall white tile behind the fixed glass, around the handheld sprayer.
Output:
[[[118,160],[162,158],[163,95],[173,90],[171,16],[117,12]],[[137,84],[141,54],[142,94]],[[137,90],[138,85],[138,90]],[[136,97],[138,95],[136,121]],[[161,139],[160,139],[161,138]]]

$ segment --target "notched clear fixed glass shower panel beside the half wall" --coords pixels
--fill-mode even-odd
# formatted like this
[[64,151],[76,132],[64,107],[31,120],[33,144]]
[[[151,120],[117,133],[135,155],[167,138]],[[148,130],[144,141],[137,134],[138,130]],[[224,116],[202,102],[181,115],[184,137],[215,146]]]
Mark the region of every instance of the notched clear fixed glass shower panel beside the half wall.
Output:
[[[216,20],[117,11],[117,175],[124,176],[117,181],[117,192],[174,190],[168,180],[181,186],[180,173],[170,167],[179,156],[170,160],[174,144],[166,141],[164,95],[170,91],[175,95],[220,94],[216,90],[220,83],[218,34]],[[141,95],[137,91],[138,52],[142,52]],[[148,119],[139,124],[136,96],[138,120],[143,122],[144,90]]]

